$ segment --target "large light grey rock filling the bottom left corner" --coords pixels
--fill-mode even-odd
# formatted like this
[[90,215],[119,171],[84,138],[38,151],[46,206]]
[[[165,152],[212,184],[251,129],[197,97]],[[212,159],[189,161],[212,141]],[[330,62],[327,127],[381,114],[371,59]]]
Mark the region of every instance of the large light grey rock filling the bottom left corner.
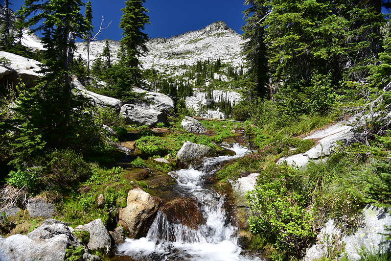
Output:
[[[88,253],[87,247],[61,223],[42,225],[27,235],[0,238],[1,261],[63,261],[69,246],[82,247],[84,260],[100,260]],[[88,259],[87,259],[88,258]]]

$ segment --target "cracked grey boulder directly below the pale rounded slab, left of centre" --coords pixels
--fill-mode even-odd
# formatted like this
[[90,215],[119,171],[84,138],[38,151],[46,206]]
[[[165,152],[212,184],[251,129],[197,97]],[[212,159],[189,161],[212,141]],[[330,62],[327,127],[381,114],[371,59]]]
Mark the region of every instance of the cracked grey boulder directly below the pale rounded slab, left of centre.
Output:
[[125,117],[127,124],[155,126],[158,122],[167,123],[167,119],[161,111],[134,104],[122,106],[120,115]]

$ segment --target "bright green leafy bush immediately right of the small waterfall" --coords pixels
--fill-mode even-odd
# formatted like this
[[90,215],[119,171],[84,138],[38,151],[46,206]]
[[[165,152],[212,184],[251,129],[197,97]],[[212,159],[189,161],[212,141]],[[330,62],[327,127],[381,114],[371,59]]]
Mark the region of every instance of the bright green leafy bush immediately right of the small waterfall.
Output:
[[247,194],[252,213],[250,229],[269,238],[277,249],[301,256],[302,249],[314,237],[313,214],[306,211],[307,198],[294,190],[299,171],[289,166],[273,168],[277,173],[262,172],[255,190]]

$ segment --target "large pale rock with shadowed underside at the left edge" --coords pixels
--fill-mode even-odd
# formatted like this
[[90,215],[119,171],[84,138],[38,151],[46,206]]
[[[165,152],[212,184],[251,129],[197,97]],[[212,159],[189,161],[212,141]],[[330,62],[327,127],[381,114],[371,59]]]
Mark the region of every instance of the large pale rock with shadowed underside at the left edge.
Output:
[[12,82],[14,85],[22,81],[27,88],[35,86],[35,80],[39,79],[43,74],[39,73],[41,63],[24,58],[20,55],[0,51],[0,83],[8,84]]

